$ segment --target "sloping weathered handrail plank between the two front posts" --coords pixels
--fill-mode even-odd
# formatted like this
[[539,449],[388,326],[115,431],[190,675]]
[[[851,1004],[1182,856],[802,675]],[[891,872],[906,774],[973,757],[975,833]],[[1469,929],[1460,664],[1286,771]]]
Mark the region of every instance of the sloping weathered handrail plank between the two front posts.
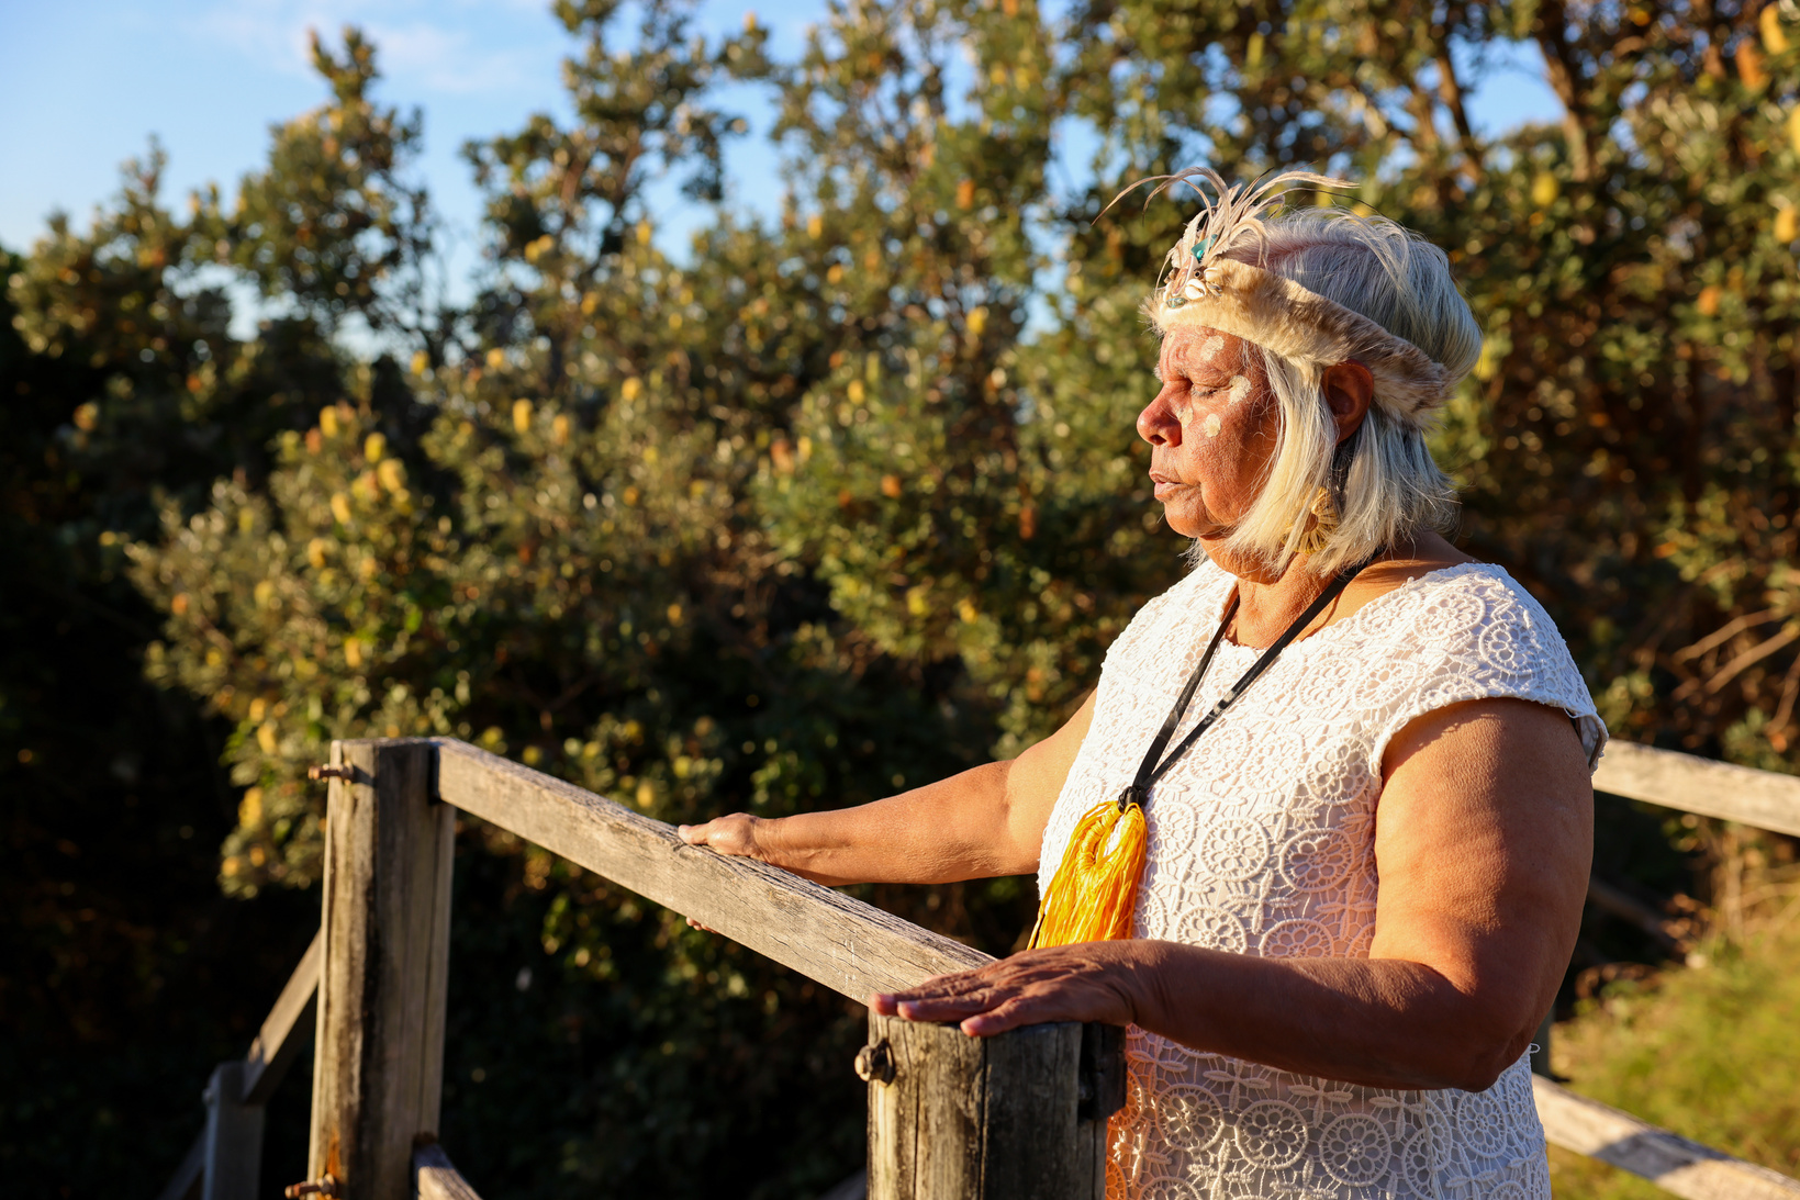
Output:
[[437,793],[853,1000],[992,963],[797,874],[688,846],[673,826],[486,750],[439,739]]

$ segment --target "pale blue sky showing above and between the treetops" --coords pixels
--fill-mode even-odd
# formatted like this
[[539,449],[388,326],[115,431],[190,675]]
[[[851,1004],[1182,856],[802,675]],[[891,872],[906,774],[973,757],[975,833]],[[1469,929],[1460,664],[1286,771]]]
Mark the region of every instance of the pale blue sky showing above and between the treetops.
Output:
[[[698,25],[734,31],[754,9],[707,0]],[[761,9],[770,50],[794,56],[823,0]],[[563,113],[560,63],[572,43],[547,0],[77,0],[0,4],[0,245],[29,248],[52,209],[85,225],[117,189],[119,164],[149,137],[169,153],[166,198],[193,187],[227,189],[266,151],[268,126],[320,103],[306,58],[306,31],[335,40],[362,25],[378,47],[380,95],[425,112],[419,164],[454,241],[472,263],[479,201],[457,148],[517,130],[533,112]],[[754,97],[738,97],[754,104]],[[1557,113],[1537,63],[1523,54],[1471,103],[1485,128]],[[745,108],[752,130],[767,108]],[[734,200],[774,210],[779,173],[751,139],[733,151]],[[698,214],[673,189],[659,193],[664,237],[684,241]],[[670,248],[675,248],[671,245]],[[455,272],[454,272],[455,273]]]

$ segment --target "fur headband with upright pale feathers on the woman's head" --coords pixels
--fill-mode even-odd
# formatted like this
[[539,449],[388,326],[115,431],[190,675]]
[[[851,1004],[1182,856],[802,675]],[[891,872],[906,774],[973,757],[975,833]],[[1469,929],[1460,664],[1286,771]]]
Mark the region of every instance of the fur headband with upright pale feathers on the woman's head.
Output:
[[1292,279],[1242,261],[1246,243],[1267,246],[1265,221],[1287,193],[1354,187],[1348,180],[1283,171],[1233,185],[1211,167],[1188,167],[1139,180],[1112,203],[1145,184],[1156,184],[1147,205],[1177,185],[1192,187],[1204,205],[1183,227],[1157,275],[1156,291],[1145,300],[1145,315],[1157,333],[1183,326],[1208,327],[1283,358],[1321,365],[1354,358],[1375,376],[1375,403],[1411,426],[1420,426],[1431,410],[1449,399],[1454,387],[1451,372],[1422,349]]

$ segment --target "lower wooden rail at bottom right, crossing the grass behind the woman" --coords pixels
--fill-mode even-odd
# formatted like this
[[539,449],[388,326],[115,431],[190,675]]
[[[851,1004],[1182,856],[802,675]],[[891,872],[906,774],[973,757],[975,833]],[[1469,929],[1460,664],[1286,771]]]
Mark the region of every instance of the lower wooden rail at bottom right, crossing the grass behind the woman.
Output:
[[1537,1119],[1552,1146],[1611,1162],[1687,1200],[1796,1200],[1800,1180],[1638,1121],[1532,1076]]

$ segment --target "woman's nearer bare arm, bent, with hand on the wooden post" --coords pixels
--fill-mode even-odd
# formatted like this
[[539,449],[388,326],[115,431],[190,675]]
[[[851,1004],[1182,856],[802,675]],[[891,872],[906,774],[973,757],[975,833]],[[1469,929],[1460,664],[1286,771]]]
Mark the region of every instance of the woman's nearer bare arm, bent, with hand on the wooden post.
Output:
[[1431,712],[1395,739],[1377,811],[1368,959],[1262,959],[1168,941],[1028,950],[875,1007],[974,1034],[1134,1022],[1201,1051],[1372,1087],[1489,1087],[1555,997],[1593,837],[1564,714]]

